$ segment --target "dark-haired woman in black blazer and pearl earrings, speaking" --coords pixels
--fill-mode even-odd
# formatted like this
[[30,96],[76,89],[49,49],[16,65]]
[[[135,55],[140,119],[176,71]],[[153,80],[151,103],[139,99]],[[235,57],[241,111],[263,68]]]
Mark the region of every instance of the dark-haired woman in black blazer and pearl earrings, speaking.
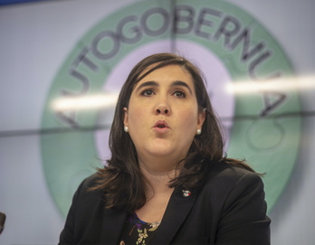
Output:
[[74,194],[60,244],[270,244],[262,180],[223,148],[197,68],[148,56],[120,91],[111,159]]

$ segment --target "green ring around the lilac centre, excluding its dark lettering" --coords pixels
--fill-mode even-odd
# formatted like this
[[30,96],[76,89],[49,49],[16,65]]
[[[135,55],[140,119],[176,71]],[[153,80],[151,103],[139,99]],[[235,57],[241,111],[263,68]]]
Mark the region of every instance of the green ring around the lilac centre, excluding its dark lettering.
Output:
[[[71,76],[71,71],[81,52],[89,51],[95,36],[104,30],[115,32],[115,25],[125,16],[140,16],[153,7],[165,9],[169,12],[169,9],[174,7],[171,6],[170,2],[167,0],[138,2],[106,16],[99,24],[93,26],[90,31],[84,34],[54,78],[43,108],[42,128],[43,132],[46,133],[41,135],[41,146],[44,174],[52,193],[52,199],[63,216],[69,210],[72,194],[78,184],[84,177],[95,172],[94,167],[100,166],[100,161],[97,160],[98,153],[93,131],[76,130],[70,127],[69,123],[67,124],[66,121],[61,120],[52,110],[52,101],[61,98],[66,93],[72,92],[75,94],[83,90],[84,84],[75,80]],[[189,6],[194,9],[195,13],[199,14],[205,9],[215,10],[215,13],[221,13],[221,15],[212,19],[214,24],[215,22],[220,24],[220,21],[222,24],[222,20],[230,18],[230,20],[237,20],[242,28],[245,26],[251,29],[251,44],[248,46],[248,51],[250,51],[250,48],[253,49],[254,43],[263,41],[264,50],[272,54],[268,60],[261,62],[259,67],[257,65],[257,68],[253,71],[255,76],[263,78],[276,71],[281,72],[282,77],[293,75],[291,63],[282,52],[280,45],[250,14],[246,14],[234,5],[217,0],[196,0],[193,4],[192,1],[181,0],[177,1],[177,5]],[[148,20],[148,25],[151,26],[152,30],[155,30],[154,28],[158,28],[158,23],[162,20],[153,15],[152,18],[156,19]],[[227,29],[233,28],[229,25],[225,27]],[[200,30],[203,30],[203,32],[207,28],[209,29],[207,31],[211,29],[207,24],[204,24],[202,28],[204,29]],[[108,61],[101,61],[88,53],[86,57],[97,64],[99,69],[93,71],[86,65],[76,64],[75,69],[89,78],[89,84],[85,87],[88,89],[84,90],[85,94],[90,95],[100,92],[110,71],[129,52],[146,43],[156,42],[157,39],[167,40],[175,37],[189,42],[196,42],[213,52],[224,63],[235,84],[240,80],[253,79],[249,71],[251,65],[253,66],[254,59],[259,54],[248,59],[248,61],[242,61],[242,45],[238,45],[234,49],[227,49],[226,43],[224,43],[226,40],[223,37],[217,38],[215,42],[210,42],[210,39],[194,33],[177,33],[174,35],[174,33],[171,33],[171,28],[168,28],[167,31],[158,36],[153,37],[144,34],[136,43],[121,44],[119,52]],[[115,43],[104,41],[100,43],[99,48],[100,50],[106,50],[113,45]],[[260,53],[263,53],[263,50]],[[283,95],[285,99],[282,100],[282,103],[270,109],[267,115],[262,116],[263,109],[268,105],[272,105],[272,103],[274,104],[274,101],[279,100]],[[227,154],[230,157],[246,158],[256,171],[266,173],[262,179],[265,184],[268,212],[272,210],[288,183],[299,152],[301,118],[283,117],[283,115],[288,115],[291,111],[300,112],[300,110],[300,100],[297,92],[285,90],[284,87],[282,90],[235,96],[235,119]],[[75,120],[80,127],[89,128],[95,127],[98,112],[97,109],[68,111],[66,116]],[[57,128],[57,131],[49,133],[53,128]]]

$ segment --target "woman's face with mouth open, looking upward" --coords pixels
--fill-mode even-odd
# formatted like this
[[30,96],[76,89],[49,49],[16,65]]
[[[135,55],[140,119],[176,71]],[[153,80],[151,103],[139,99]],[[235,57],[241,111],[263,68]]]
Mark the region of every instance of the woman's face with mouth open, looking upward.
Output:
[[205,112],[198,112],[194,81],[178,65],[159,68],[139,80],[124,109],[124,125],[139,161],[151,156],[183,159],[205,120]]

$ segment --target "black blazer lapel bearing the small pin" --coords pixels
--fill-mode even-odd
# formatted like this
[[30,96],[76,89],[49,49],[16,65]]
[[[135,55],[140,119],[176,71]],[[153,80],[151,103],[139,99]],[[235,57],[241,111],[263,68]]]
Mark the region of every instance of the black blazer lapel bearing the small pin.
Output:
[[151,244],[170,244],[186,216],[196,202],[198,192],[191,191],[190,195],[185,195],[181,188],[176,188],[172,194],[164,217],[157,229],[157,233]]

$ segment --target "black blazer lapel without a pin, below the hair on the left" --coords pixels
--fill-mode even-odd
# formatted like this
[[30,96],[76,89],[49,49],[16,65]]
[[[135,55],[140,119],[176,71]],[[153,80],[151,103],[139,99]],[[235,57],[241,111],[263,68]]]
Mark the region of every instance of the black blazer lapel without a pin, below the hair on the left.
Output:
[[100,244],[119,244],[120,233],[128,212],[105,210],[103,215]]

